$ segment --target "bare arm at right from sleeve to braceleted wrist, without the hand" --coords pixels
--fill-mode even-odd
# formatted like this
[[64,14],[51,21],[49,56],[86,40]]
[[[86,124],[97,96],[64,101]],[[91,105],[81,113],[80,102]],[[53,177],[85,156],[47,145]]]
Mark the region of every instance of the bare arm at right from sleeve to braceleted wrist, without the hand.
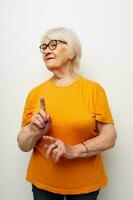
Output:
[[97,122],[97,130],[98,136],[84,142],[88,152],[82,144],[72,147],[75,154],[78,154],[77,157],[91,157],[115,145],[116,131],[113,124]]

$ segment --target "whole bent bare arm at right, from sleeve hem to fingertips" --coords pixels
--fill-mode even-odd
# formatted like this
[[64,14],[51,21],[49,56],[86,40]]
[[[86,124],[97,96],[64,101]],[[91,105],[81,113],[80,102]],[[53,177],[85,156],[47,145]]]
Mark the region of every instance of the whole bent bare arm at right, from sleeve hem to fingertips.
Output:
[[44,140],[51,140],[51,144],[46,145],[46,148],[48,148],[46,158],[48,159],[51,153],[55,162],[58,162],[61,156],[67,159],[88,158],[112,148],[116,140],[114,125],[97,122],[97,131],[98,136],[86,140],[85,146],[82,143],[68,146],[60,139],[43,136]]

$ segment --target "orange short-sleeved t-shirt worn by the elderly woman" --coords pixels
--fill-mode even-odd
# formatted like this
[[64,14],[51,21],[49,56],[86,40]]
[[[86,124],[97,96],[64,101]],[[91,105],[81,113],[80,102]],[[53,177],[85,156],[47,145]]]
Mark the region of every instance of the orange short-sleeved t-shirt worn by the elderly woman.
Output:
[[[96,120],[114,123],[104,89],[79,76],[69,86],[57,86],[50,78],[32,89],[26,100],[22,126],[38,111],[40,96],[44,96],[46,112],[52,117],[48,135],[68,145],[96,137]],[[41,140],[33,150],[27,170],[27,180],[38,188],[60,194],[81,194],[107,185],[100,154],[89,159],[60,158],[55,163],[52,157],[46,160],[45,153],[44,140]]]

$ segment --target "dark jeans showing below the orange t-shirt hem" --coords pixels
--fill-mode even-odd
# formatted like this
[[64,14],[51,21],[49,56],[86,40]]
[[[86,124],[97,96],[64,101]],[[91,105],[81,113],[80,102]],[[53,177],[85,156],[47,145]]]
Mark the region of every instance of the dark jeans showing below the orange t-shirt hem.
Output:
[[64,197],[66,197],[66,200],[96,200],[99,193],[99,190],[97,190],[88,194],[61,195],[41,190],[34,185],[32,185],[32,191],[34,200],[64,200]]

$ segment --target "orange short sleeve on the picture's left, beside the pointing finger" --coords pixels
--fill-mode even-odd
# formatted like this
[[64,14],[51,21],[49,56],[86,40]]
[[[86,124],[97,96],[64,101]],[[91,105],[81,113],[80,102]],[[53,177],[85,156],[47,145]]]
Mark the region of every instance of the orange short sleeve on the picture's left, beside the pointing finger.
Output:
[[24,111],[23,111],[23,116],[22,116],[22,122],[21,126],[26,126],[31,122],[32,114],[33,114],[33,105],[32,105],[32,92],[29,92],[25,106],[24,106]]

